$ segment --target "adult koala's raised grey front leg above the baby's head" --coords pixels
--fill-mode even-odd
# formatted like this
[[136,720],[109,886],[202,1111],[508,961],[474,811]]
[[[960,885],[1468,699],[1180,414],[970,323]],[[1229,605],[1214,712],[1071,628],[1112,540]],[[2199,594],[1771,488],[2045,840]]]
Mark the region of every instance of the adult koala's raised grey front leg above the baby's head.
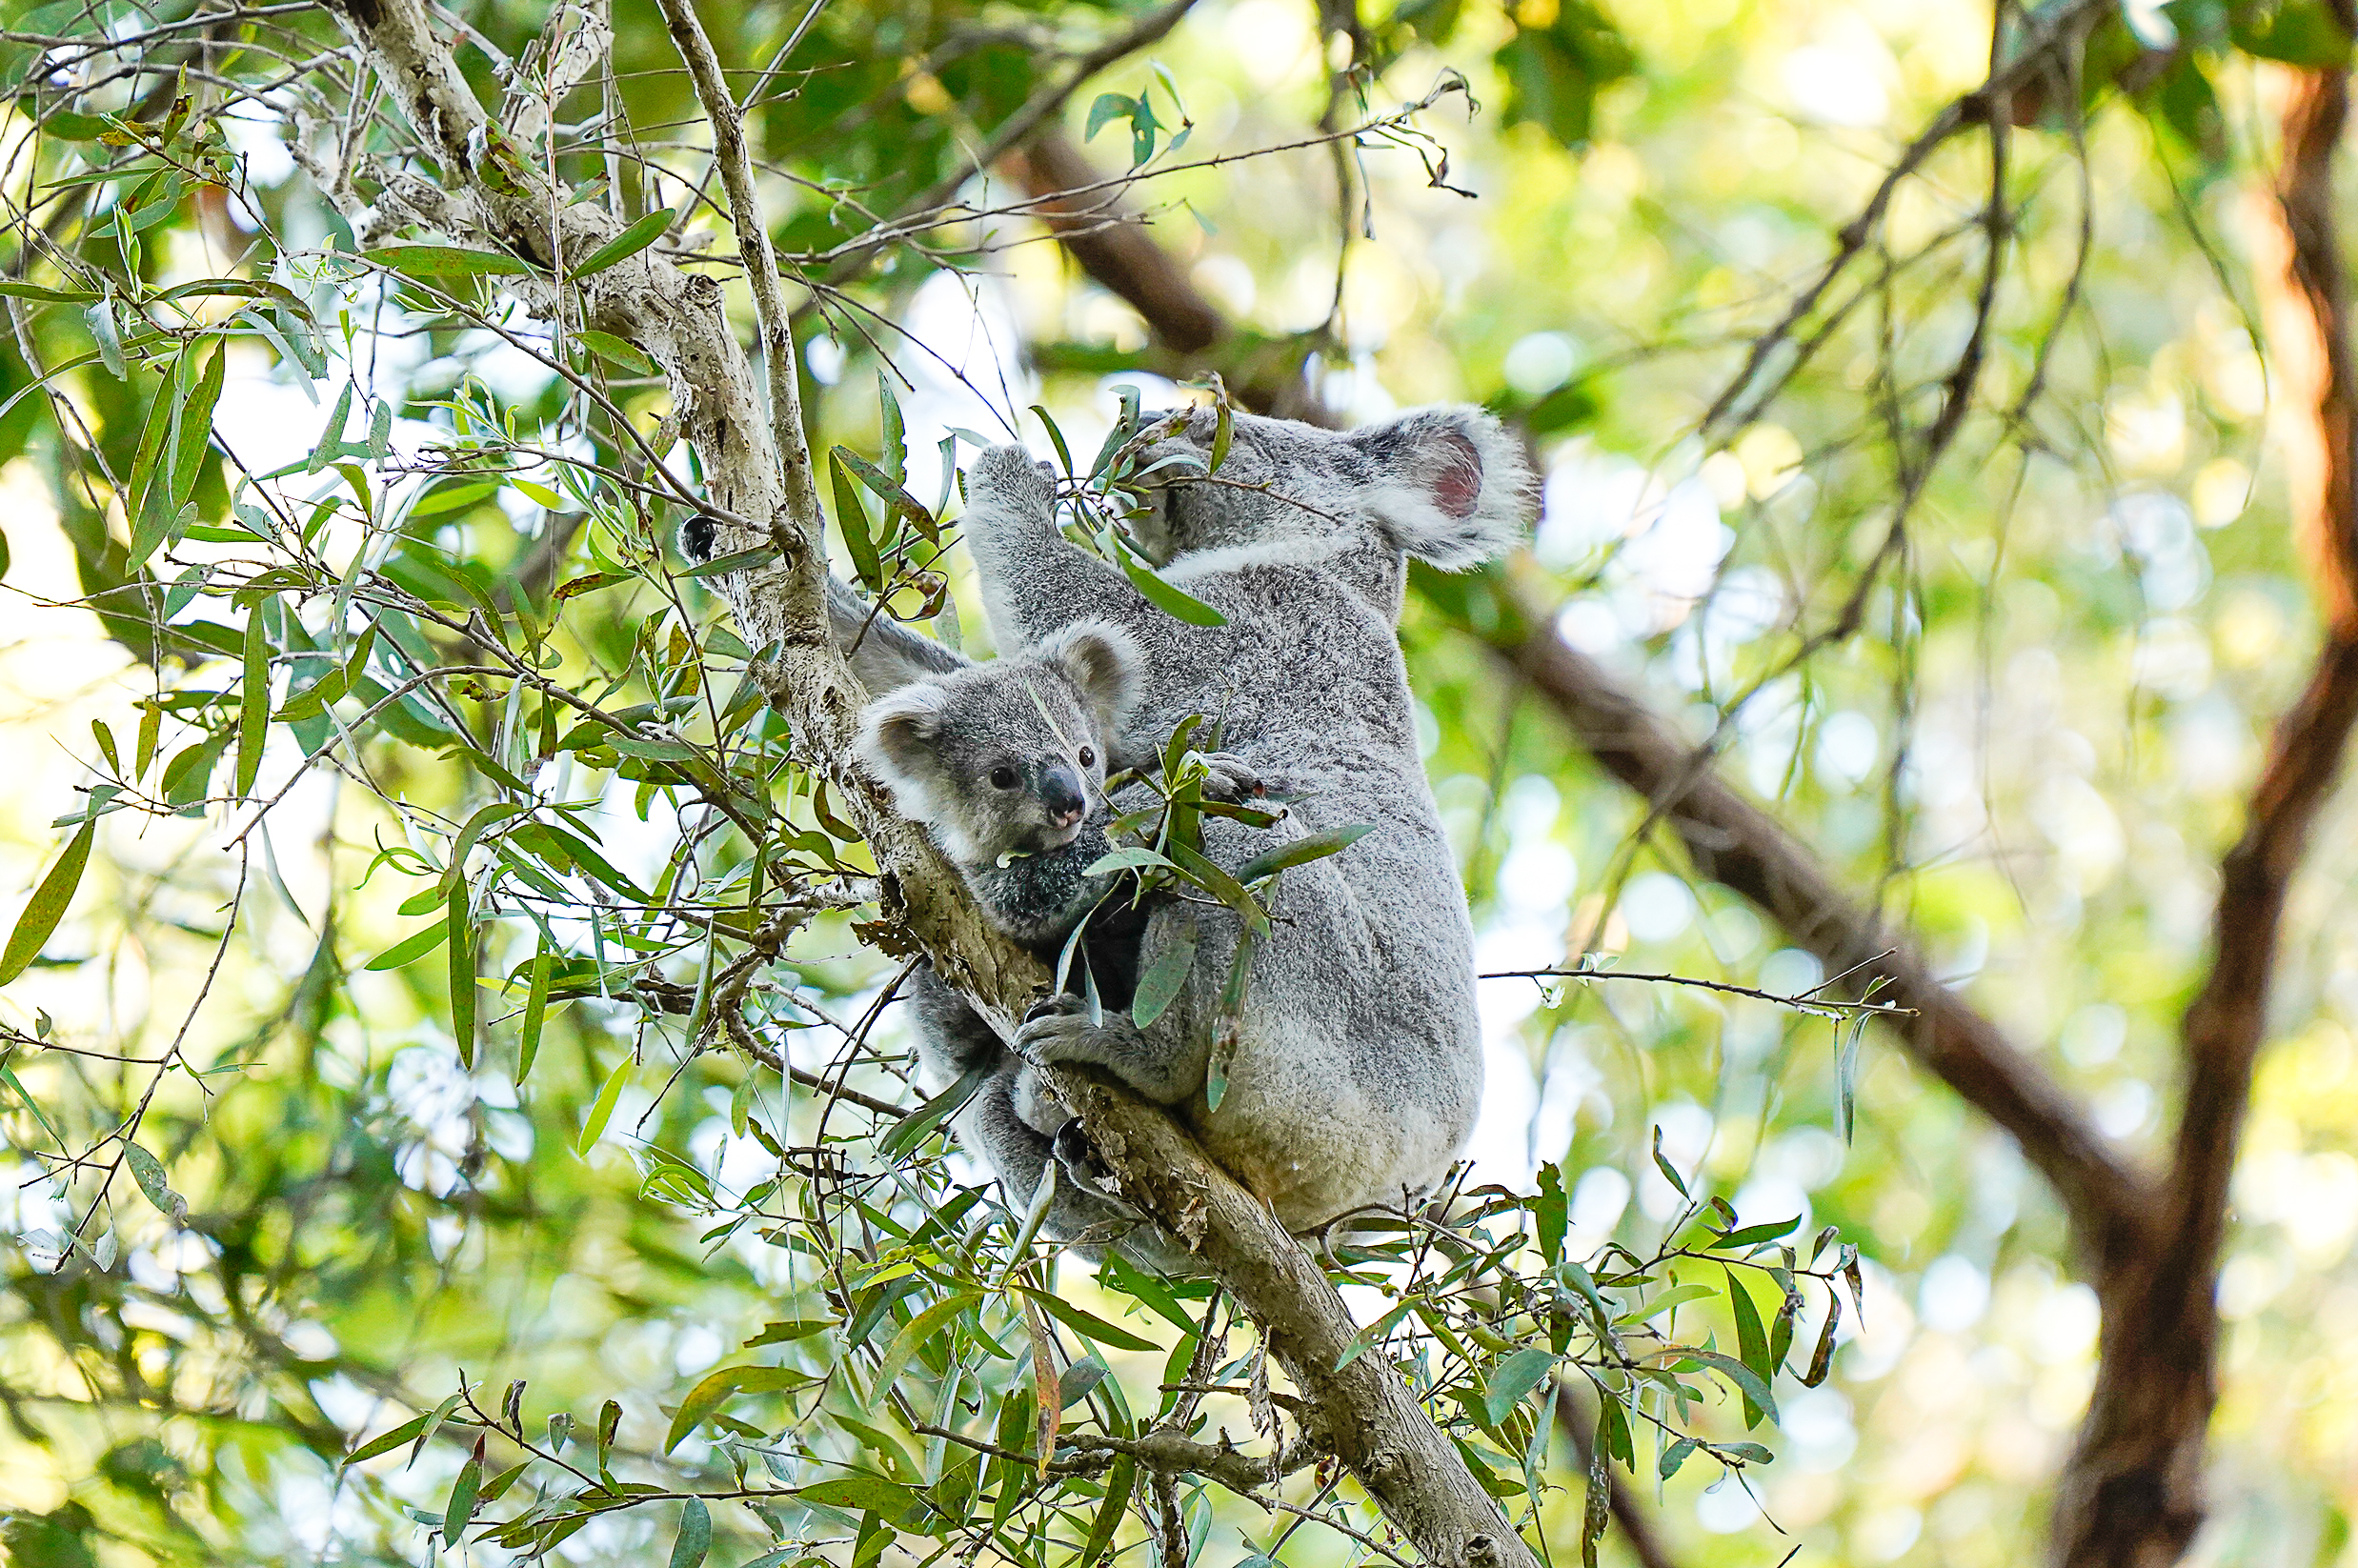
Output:
[[1056,486],[1021,446],[986,448],[967,469],[960,531],[1002,651],[1082,620],[1127,620],[1144,599],[1111,564],[1056,531]]

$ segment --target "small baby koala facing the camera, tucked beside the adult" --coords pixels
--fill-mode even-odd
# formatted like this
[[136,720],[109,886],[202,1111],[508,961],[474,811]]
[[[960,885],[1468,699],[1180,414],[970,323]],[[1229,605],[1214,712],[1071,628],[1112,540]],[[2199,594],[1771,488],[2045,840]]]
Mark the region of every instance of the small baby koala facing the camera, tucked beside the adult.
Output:
[[[872,618],[832,578],[828,608],[854,670],[884,693],[861,714],[861,764],[927,828],[990,922],[1038,957],[1054,964],[1087,917],[1073,960],[1085,969],[1078,983],[1106,1007],[1129,1007],[1144,913],[1113,896],[1115,877],[1087,868],[1111,849],[1108,736],[1137,693],[1137,644],[1118,627],[1078,625],[1014,658],[971,663]],[[1082,1172],[1085,1144],[1056,1137],[1071,1111],[1038,1068],[1009,1052],[929,964],[910,974],[908,1000],[929,1092],[974,1068],[988,1073],[953,1129],[1000,1179],[1012,1210],[1030,1210],[1056,1158],[1063,1170],[1045,1221],[1049,1236],[1089,1252],[1118,1243],[1132,1261],[1186,1271],[1177,1243],[1094,1191]]]

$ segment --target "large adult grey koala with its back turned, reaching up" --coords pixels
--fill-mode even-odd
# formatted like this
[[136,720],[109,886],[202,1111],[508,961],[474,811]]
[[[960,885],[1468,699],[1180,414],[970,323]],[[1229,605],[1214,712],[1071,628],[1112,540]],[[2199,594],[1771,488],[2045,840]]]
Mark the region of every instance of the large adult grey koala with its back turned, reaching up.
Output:
[[[1252,955],[1219,1106],[1205,1080],[1219,993],[1240,941],[1224,908],[1146,913],[1137,969],[1193,943],[1179,997],[1137,1028],[1127,1012],[1059,997],[1016,1049],[1089,1063],[1172,1106],[1290,1231],[1431,1191],[1481,1101],[1474,934],[1417,750],[1396,625],[1408,559],[1462,571],[1511,549],[1530,509],[1519,446],[1476,408],[1422,408],[1356,431],[1238,415],[1219,474],[1212,410],[1151,460],[1139,538],[1165,580],[1226,615],[1198,627],[1155,608],[1111,564],[1068,542],[1054,481],[1021,448],[967,474],[964,540],[1002,651],[1052,651],[1075,627],[1118,627],[1139,674],[1122,707],[1134,745],[1217,712],[1243,769],[1283,778],[1273,835],[1372,825],[1297,865]],[[1283,842],[1283,837],[1280,837]],[[1236,870],[1269,839],[1205,821],[1205,851]]]

